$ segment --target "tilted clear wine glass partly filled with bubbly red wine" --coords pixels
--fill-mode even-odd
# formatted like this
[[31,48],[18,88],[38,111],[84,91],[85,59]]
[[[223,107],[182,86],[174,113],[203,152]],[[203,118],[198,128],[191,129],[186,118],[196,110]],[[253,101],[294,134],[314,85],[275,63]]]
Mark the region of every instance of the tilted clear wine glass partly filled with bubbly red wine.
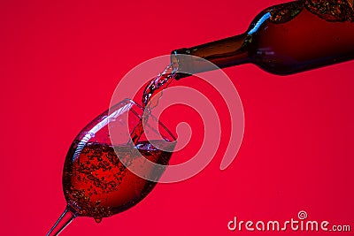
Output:
[[165,171],[175,141],[130,99],[104,111],[69,148],[63,171],[67,205],[47,236],[58,235],[75,217],[94,217],[99,223],[142,201]]

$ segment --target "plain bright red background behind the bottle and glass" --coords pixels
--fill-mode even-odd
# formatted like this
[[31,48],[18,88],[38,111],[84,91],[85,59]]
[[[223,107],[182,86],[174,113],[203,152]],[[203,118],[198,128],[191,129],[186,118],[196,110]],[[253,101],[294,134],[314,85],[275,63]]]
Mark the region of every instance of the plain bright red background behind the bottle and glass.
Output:
[[[65,209],[66,151],[108,108],[125,73],[172,49],[240,34],[278,3],[2,1],[0,234],[48,232]],[[99,225],[75,219],[62,235],[234,235],[227,231],[234,216],[281,221],[299,210],[353,228],[353,65],[289,77],[254,65],[226,69],[246,122],[234,163],[219,171],[218,154],[196,177],[158,184],[133,209]]]

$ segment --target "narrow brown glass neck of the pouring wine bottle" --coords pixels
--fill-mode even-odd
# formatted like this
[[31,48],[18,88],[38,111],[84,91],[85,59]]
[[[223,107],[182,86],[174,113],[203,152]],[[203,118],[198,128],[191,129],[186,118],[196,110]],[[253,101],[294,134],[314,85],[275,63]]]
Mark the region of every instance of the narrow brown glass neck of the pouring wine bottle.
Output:
[[[178,71],[180,72],[177,79],[189,76],[189,74],[215,70],[217,69],[215,65],[219,68],[225,68],[249,63],[250,55],[248,51],[249,42],[247,42],[247,35],[247,33],[239,34],[189,49],[173,50],[171,62],[178,64]],[[211,65],[207,61],[212,62],[214,65]]]

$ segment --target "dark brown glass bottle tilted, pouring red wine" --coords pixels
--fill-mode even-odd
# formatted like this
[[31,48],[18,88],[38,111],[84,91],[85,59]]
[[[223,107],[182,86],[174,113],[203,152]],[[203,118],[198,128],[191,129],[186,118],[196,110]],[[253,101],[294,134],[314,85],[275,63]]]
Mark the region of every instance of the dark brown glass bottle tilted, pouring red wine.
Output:
[[[173,50],[171,60],[178,62],[180,72],[215,69],[197,57],[220,68],[253,63],[280,75],[353,59],[353,0],[299,0],[275,5],[259,13],[246,33]],[[179,78],[184,76],[181,73]]]

